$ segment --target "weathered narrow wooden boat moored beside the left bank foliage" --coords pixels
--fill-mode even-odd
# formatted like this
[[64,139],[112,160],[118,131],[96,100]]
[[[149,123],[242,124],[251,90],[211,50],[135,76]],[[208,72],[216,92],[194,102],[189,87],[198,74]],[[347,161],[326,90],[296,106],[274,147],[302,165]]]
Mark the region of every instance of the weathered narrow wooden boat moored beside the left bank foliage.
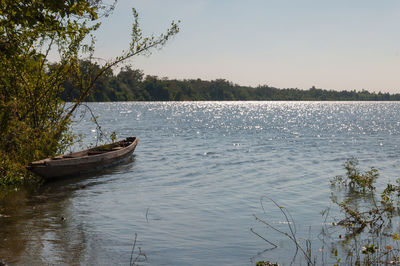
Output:
[[128,137],[88,150],[31,162],[27,168],[46,180],[95,172],[128,159],[138,142],[138,138]]

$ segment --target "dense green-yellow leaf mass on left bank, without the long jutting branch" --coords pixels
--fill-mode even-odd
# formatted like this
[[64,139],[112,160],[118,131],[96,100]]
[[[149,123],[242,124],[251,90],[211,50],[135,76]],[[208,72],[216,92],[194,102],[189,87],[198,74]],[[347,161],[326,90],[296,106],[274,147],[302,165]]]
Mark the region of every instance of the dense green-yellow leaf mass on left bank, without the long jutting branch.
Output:
[[[99,6],[84,0],[0,2],[0,183],[22,182],[25,165],[71,141],[60,99]],[[60,53],[51,69],[47,56]]]

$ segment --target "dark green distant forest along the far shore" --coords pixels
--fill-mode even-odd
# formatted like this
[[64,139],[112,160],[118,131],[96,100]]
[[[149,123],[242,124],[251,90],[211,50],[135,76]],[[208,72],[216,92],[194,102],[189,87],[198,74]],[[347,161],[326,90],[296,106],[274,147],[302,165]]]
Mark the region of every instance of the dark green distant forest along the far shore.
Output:
[[[95,78],[99,66],[80,62],[81,72]],[[80,82],[71,78],[64,83],[62,99],[78,97]],[[362,91],[333,91],[315,87],[278,89],[268,85],[240,86],[225,79],[167,79],[145,75],[143,71],[124,67],[114,75],[105,73],[95,83],[94,92],[85,99],[89,102],[108,101],[400,101],[400,94]]]

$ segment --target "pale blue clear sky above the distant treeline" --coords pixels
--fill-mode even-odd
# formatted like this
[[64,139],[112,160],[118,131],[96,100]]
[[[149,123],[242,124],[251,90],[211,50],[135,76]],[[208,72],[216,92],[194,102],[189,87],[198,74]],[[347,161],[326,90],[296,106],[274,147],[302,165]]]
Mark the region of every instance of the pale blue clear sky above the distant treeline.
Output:
[[182,21],[166,47],[131,61],[145,74],[400,93],[398,0],[119,0],[97,56],[127,47],[132,7],[145,33]]

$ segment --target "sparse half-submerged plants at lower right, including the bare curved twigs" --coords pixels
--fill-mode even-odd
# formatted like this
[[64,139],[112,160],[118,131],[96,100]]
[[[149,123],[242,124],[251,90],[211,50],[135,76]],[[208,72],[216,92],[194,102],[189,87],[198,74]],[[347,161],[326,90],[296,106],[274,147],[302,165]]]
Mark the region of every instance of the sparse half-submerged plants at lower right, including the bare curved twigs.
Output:
[[[375,168],[362,172],[358,169],[358,161],[350,159],[344,164],[346,174],[331,180],[331,201],[337,215],[331,208],[322,212],[325,222],[318,235],[318,251],[312,248],[310,239],[296,236],[296,225],[288,210],[274,200],[263,197],[273,203],[285,219],[288,231],[281,229],[255,216],[256,220],[286,238],[295,246],[292,263],[302,262],[307,265],[381,265],[400,263],[400,231],[394,227],[394,220],[400,216],[400,179],[396,184],[387,183],[378,192],[375,183],[379,173]],[[328,219],[331,222],[327,222]],[[254,232],[265,240],[271,251],[278,245]],[[315,244],[315,243],[314,243]],[[297,258],[298,256],[301,258]],[[269,261],[260,261],[257,265],[275,265]]]

